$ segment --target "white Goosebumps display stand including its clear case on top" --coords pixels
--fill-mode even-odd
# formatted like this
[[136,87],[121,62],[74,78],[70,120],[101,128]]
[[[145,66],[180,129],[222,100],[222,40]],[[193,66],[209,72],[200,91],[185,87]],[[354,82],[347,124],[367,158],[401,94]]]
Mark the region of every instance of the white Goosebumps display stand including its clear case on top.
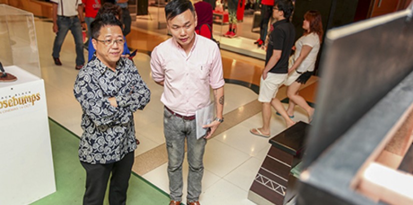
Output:
[[[0,4],[0,204],[30,204],[56,191],[45,82],[33,14]],[[18,147],[18,148],[17,148]]]

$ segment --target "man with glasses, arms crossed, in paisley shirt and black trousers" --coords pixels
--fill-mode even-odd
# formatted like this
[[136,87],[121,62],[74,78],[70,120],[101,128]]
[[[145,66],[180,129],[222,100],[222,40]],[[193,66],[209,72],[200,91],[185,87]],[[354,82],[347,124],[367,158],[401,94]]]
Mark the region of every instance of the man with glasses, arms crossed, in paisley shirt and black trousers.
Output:
[[91,23],[96,57],[80,70],[74,93],[82,106],[79,159],[85,168],[83,204],[103,204],[109,176],[109,204],[126,204],[137,147],[133,112],[150,91],[132,60],[121,57],[122,23],[111,13]]

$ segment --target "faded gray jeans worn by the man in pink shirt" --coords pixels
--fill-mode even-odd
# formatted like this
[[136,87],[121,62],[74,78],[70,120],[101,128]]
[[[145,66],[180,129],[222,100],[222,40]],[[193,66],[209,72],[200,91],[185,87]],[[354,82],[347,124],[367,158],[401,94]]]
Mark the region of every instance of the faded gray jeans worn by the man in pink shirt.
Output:
[[201,194],[201,180],[204,174],[203,156],[206,139],[196,139],[194,120],[185,120],[164,109],[164,133],[168,151],[168,177],[171,200],[182,200],[182,162],[187,140],[188,158],[188,195],[193,202]]

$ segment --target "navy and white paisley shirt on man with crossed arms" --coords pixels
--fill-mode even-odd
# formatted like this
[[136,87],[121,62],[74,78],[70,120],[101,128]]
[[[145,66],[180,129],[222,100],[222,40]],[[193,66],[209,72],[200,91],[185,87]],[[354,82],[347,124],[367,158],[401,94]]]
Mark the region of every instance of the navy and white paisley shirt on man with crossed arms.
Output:
[[112,163],[136,149],[133,112],[145,107],[151,92],[132,60],[121,57],[113,71],[94,57],[80,70],[74,93],[83,110],[82,162]]

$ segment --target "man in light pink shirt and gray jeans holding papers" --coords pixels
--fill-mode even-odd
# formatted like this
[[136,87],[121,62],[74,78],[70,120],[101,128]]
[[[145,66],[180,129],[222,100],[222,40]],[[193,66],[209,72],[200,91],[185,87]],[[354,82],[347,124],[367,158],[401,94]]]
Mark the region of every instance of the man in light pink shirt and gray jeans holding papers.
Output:
[[[152,77],[164,86],[164,134],[168,151],[170,204],[182,200],[182,162],[187,140],[189,164],[187,204],[199,205],[204,171],[203,155],[208,138],[221,122],[224,78],[217,44],[195,33],[197,17],[189,0],[172,0],[165,6],[167,28],[172,38],[160,43],[151,55]],[[204,125],[210,131],[196,138],[195,110],[210,103],[213,89],[216,118]]]

